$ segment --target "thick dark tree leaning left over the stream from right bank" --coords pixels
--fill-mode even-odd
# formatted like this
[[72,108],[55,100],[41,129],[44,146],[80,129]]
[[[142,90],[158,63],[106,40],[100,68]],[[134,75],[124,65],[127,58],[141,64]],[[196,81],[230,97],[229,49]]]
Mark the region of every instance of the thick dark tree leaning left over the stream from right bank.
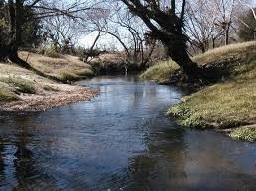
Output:
[[[151,36],[160,40],[168,55],[181,67],[185,76],[198,79],[200,69],[187,52],[188,37],[184,32],[186,0],[181,3],[171,0],[170,7],[159,0],[121,0],[128,9],[140,17],[151,30]],[[178,11],[178,6],[180,11]]]

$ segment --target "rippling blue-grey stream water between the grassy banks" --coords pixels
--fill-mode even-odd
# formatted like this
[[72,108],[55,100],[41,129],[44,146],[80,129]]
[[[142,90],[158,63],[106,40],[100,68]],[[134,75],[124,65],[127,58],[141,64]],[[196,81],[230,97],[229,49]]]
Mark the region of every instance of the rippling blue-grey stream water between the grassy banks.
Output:
[[91,102],[0,114],[0,190],[256,190],[256,145],[165,117],[183,91],[134,77],[80,82]]

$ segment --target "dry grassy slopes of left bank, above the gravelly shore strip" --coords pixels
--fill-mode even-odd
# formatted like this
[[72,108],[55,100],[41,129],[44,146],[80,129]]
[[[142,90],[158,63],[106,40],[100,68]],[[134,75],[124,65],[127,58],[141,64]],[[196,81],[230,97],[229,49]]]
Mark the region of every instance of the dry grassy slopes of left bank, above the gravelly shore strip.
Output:
[[[93,75],[90,65],[77,57],[62,55],[60,58],[19,52],[19,56],[43,73],[62,80],[78,80]],[[61,90],[60,84],[12,64],[0,63],[0,102],[18,100],[21,94],[47,94]]]

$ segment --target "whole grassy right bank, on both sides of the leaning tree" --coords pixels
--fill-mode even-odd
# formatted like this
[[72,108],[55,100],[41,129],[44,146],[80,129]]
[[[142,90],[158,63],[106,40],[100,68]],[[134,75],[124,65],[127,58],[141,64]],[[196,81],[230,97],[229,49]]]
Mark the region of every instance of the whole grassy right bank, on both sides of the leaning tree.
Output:
[[[221,47],[195,56],[194,61],[200,64],[221,62],[233,58],[240,58],[240,60],[230,67],[230,76],[184,97],[182,103],[170,108],[168,114],[177,116],[179,124],[183,126],[201,129],[232,128],[229,135],[234,139],[255,141],[255,55],[256,42],[248,42]],[[170,69],[170,66],[165,63],[158,64],[146,71],[142,77],[158,82],[163,82],[162,80],[168,82],[173,65],[174,63],[171,64]]]

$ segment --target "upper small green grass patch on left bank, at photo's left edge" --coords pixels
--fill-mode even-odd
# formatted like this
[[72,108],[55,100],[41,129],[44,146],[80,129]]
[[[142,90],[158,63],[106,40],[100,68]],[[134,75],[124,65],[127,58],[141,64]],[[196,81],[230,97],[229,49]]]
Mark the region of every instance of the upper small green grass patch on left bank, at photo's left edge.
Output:
[[29,80],[24,80],[20,78],[4,78],[0,79],[0,81],[12,85],[18,92],[28,94],[36,93],[34,84]]

